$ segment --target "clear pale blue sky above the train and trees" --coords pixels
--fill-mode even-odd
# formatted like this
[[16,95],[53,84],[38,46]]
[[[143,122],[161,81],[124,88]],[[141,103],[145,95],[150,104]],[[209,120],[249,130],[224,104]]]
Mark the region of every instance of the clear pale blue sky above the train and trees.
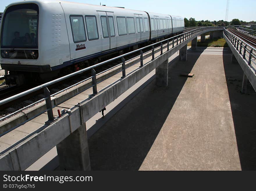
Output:
[[[17,0],[0,0],[0,12],[5,7]],[[104,4],[106,6],[125,7],[134,10],[143,10],[168,15],[177,15],[186,18],[193,17],[195,20],[218,21],[225,19],[226,0],[70,0],[73,2]],[[161,2],[161,3],[160,3]],[[246,6],[252,5],[252,6]],[[255,0],[230,0],[228,21],[239,19],[243,21],[256,21]],[[181,7],[182,6],[182,7]]]

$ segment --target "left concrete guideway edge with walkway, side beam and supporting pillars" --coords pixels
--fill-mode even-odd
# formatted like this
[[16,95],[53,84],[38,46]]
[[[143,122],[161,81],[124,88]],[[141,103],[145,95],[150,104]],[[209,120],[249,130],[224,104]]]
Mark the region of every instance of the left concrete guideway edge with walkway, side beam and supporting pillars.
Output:
[[[191,49],[196,49],[198,35],[201,35],[203,40],[205,33],[210,32],[211,38],[214,35],[212,32],[219,33],[220,30],[223,30],[223,27],[197,28],[153,44],[152,51],[143,53],[143,50],[148,47],[141,48],[137,50],[141,51],[141,56],[131,60],[125,61],[123,57],[132,52],[118,56],[113,59],[122,59],[119,68],[108,69],[97,77],[94,67],[84,69],[83,71],[92,70],[90,79],[86,79],[76,86],[65,88],[58,94],[49,95],[47,92],[47,86],[56,81],[38,87],[44,88],[45,99],[43,101],[45,100],[47,104],[39,103],[41,105],[37,107],[37,110],[31,108],[30,111],[24,110],[23,113],[17,114],[19,116],[16,116],[16,121],[10,120],[11,117],[2,121],[0,169],[25,170],[55,146],[57,146],[61,169],[90,169],[85,122],[154,69],[156,69],[156,84],[167,86],[168,58],[179,50],[179,60],[186,61],[188,42],[192,41]],[[224,32],[224,38],[225,35],[226,32]],[[160,47],[154,48],[158,44]],[[230,49],[232,50],[232,47]],[[109,61],[99,63],[97,66]],[[29,91],[0,101],[0,104],[8,103],[28,93]],[[57,116],[57,109],[63,108],[67,108],[66,111]],[[14,121],[13,124],[9,123],[10,121]],[[45,121],[47,122],[44,123]],[[22,128],[23,130],[19,131]],[[24,133],[24,128],[26,128],[26,133]],[[23,132],[23,134],[21,135],[19,132]],[[13,138],[12,142],[8,142],[10,137]]]

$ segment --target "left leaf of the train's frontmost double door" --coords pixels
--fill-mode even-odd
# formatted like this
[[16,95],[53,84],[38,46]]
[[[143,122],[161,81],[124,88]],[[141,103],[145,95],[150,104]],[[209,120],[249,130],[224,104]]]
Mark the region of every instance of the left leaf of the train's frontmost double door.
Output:
[[102,51],[110,49],[110,36],[109,36],[109,26],[107,14],[105,11],[97,11],[99,15],[99,25],[102,39]]

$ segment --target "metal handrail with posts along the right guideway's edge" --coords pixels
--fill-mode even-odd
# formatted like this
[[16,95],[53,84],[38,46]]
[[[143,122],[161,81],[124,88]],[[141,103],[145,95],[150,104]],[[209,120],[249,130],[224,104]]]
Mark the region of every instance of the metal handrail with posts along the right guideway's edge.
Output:
[[[239,54],[243,56],[243,59],[247,62],[248,66],[252,68],[256,74],[256,69],[252,66],[252,62],[254,63],[254,65],[256,65],[255,62],[253,61],[253,59],[256,58],[255,55],[253,54],[253,51],[256,52],[256,49],[252,47],[250,44],[243,41],[241,38],[237,37],[230,31],[228,31],[227,27],[224,27],[223,33],[227,37],[227,39],[230,40],[232,45],[237,49]],[[249,56],[246,55],[246,52],[249,53]],[[246,60],[246,57],[248,58],[248,60]]]

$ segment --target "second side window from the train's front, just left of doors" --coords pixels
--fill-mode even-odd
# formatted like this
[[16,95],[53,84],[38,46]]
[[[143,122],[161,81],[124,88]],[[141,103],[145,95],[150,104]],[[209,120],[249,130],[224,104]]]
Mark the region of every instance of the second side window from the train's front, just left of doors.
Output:
[[86,15],[86,30],[88,35],[88,40],[97,40],[99,39],[97,20],[94,15]]

